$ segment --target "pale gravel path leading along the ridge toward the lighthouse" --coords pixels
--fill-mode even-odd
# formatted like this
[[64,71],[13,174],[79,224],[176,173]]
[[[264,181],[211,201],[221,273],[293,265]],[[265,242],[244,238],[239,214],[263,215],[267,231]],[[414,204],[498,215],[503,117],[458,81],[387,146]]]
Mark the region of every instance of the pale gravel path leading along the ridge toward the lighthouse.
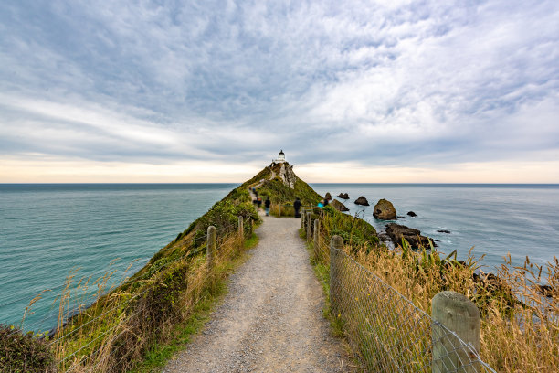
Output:
[[298,236],[301,220],[263,217],[248,261],[204,331],[163,369],[178,372],[349,372],[322,317],[322,287]]

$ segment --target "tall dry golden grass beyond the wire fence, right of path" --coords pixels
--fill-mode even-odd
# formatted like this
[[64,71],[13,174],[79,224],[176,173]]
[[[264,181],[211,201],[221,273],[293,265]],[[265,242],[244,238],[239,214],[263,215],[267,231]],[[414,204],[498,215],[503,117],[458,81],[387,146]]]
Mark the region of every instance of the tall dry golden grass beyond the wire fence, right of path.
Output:
[[[347,222],[337,215],[322,215],[319,247],[313,250],[316,260],[329,263],[331,232],[344,224]],[[482,258],[474,258],[471,252],[467,261],[456,261],[456,255],[445,258],[436,250],[410,250],[401,246],[388,250],[382,245],[375,248],[346,245],[344,251],[427,314],[430,314],[431,299],[440,291],[467,295],[481,312],[480,357],[496,371],[559,371],[559,262],[556,258],[543,267],[526,258],[524,265],[518,267],[508,257],[495,269],[494,275],[488,275],[479,270]],[[353,281],[352,276],[345,280]],[[549,287],[543,289],[542,284]],[[353,286],[361,286],[367,293],[364,289],[367,285],[354,283]]]

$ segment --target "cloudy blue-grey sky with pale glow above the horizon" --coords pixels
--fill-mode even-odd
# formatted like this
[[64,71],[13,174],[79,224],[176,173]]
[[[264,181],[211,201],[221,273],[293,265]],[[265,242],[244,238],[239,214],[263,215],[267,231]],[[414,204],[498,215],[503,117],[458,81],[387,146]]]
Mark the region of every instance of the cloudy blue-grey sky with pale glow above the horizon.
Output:
[[[198,4],[196,4],[198,3]],[[559,183],[559,2],[0,2],[0,182]]]

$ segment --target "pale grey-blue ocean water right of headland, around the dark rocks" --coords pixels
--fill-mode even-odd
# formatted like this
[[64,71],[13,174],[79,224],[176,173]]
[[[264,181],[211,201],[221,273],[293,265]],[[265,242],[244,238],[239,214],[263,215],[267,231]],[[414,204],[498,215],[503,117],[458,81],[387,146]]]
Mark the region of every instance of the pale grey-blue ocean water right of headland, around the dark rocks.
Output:
[[[350,199],[336,198],[370,222],[377,231],[386,221],[373,218],[379,199],[396,208],[396,223],[421,230],[436,240],[438,250],[457,250],[465,259],[469,250],[485,255],[485,272],[503,263],[511,254],[512,263],[522,265],[526,256],[544,264],[559,257],[559,185],[457,185],[457,184],[311,184],[319,194],[332,197],[348,193]],[[369,207],[355,205],[360,196]],[[417,218],[406,215],[414,211]],[[438,230],[449,230],[441,233]]]

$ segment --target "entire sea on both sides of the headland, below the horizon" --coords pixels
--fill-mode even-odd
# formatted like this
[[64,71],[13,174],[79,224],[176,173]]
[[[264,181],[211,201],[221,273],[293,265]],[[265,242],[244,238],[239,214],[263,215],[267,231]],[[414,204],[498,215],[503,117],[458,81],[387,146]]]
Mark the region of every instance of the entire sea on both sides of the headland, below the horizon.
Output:
[[[559,256],[559,185],[316,184],[322,196],[348,193],[349,214],[378,231],[374,204],[391,201],[398,224],[420,229],[444,253],[483,256],[490,272],[510,253],[545,264]],[[236,184],[0,184],[0,323],[47,331],[58,295],[112,272],[109,285],[142,268],[155,252],[237,187]],[[366,197],[369,207],[355,205]],[[417,217],[407,215],[414,211]],[[449,233],[440,232],[446,230]],[[37,298],[38,296],[38,298]],[[87,294],[80,302],[88,304]],[[24,320],[25,313],[25,320]]]

